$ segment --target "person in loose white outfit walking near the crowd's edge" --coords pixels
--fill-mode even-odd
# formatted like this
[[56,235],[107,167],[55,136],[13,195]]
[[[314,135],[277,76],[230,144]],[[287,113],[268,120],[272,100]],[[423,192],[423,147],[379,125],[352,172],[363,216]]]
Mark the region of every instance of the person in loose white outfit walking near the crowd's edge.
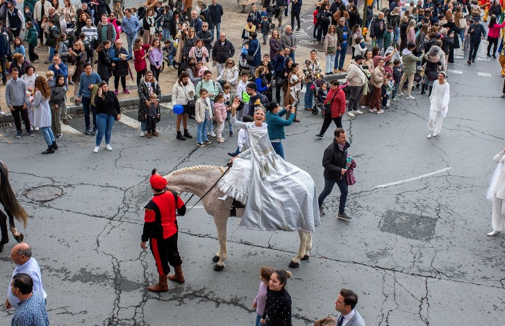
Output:
[[438,73],[438,80],[433,82],[430,96],[428,138],[436,137],[442,130],[442,123],[449,110],[449,83],[445,80],[445,72]]

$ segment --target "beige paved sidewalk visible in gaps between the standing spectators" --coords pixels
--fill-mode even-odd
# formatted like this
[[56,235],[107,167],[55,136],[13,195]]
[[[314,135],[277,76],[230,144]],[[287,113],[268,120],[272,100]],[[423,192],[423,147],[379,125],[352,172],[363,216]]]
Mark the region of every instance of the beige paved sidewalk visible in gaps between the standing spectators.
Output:
[[[235,55],[234,59],[235,62],[238,58],[238,55],[240,53],[241,45],[242,45],[242,30],[246,24],[246,19],[247,19],[247,13],[242,13],[240,6],[238,6],[236,0],[220,0],[219,3],[223,6],[224,9],[224,15],[222,17],[222,32],[226,33],[226,36],[231,42],[233,43],[233,46],[235,46]],[[259,3],[259,2],[258,2]],[[307,12],[308,10],[313,10],[313,3],[310,4],[304,4],[302,7],[302,12]],[[260,10],[260,6],[259,10]],[[249,12],[248,9],[246,9],[247,12]],[[290,21],[290,17],[283,17],[283,26],[285,24],[288,24]],[[280,30],[279,30],[280,31]],[[261,36],[261,34],[260,34]],[[258,37],[259,39],[260,37]],[[125,44],[126,47],[126,35],[122,34],[121,39],[123,40],[123,44]],[[263,46],[262,45],[262,53],[267,53],[270,51],[267,45]],[[299,48],[297,49],[296,53],[296,60],[297,62],[303,63],[303,61],[306,58],[310,57],[310,52],[311,52],[312,46],[305,46],[304,44],[301,44]],[[26,51],[28,51],[28,46],[26,45]],[[35,53],[37,53],[40,57],[40,60],[38,63],[32,64],[35,67],[35,74],[38,74],[39,76],[45,76],[45,73],[47,71],[47,67],[49,65],[44,65],[44,61],[49,58],[49,49],[47,46],[44,47],[37,47],[35,48]],[[349,53],[349,51],[348,51]],[[321,65],[323,66],[324,69],[324,53],[318,53],[318,56],[320,58]],[[95,57],[96,53],[95,53]],[[347,69],[349,62],[351,60],[351,55],[346,56],[345,60],[345,69]],[[130,60],[130,67],[133,72],[133,78],[135,79],[135,69],[133,68],[133,60]],[[148,66],[149,67],[149,66]],[[97,67],[94,65],[94,71],[96,71]],[[213,71],[213,79],[217,78],[215,76],[215,68],[210,67],[210,70]],[[172,96],[172,87],[174,83],[176,83],[177,80],[177,70],[174,69],[173,67],[165,67],[163,72],[160,74],[160,78],[158,82],[160,83],[161,87],[161,93],[164,95],[163,100],[164,101],[170,101]],[[114,85],[114,78],[111,77],[109,80],[109,85],[111,86],[111,89],[113,89]],[[331,79],[334,78],[342,78],[342,75],[333,75]],[[8,76],[8,80],[10,79],[10,76]],[[122,106],[131,106],[131,105],[138,105],[138,94],[137,94],[137,85],[135,81],[131,80],[130,76],[126,76],[126,87],[129,89],[130,94],[122,94],[119,93],[118,99],[122,103]],[[70,98],[74,97],[74,87],[70,86],[69,90],[67,92],[67,107],[68,107],[68,113],[69,114],[75,114],[76,112],[79,113],[79,109],[82,107],[76,107],[74,105],[73,101],[69,101]],[[7,108],[6,105],[6,98],[5,98],[5,85],[0,85],[0,107],[3,112],[6,112],[5,117],[0,117],[0,122],[8,122],[8,121],[13,121],[13,117],[10,115],[10,110]]]

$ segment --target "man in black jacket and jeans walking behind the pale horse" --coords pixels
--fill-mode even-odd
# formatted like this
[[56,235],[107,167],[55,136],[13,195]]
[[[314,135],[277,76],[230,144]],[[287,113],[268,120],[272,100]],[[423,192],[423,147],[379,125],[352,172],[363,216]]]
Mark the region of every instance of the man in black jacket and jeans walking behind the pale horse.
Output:
[[347,201],[347,180],[345,173],[349,164],[347,164],[347,148],[350,146],[345,140],[345,130],[337,128],[334,132],[335,139],[333,144],[324,150],[322,157],[322,166],[324,166],[324,189],[322,190],[317,201],[319,203],[319,214],[324,215],[322,204],[326,196],[331,194],[335,184],[340,189],[340,204],[338,205],[337,218],[349,221],[351,216],[345,214],[345,202]]

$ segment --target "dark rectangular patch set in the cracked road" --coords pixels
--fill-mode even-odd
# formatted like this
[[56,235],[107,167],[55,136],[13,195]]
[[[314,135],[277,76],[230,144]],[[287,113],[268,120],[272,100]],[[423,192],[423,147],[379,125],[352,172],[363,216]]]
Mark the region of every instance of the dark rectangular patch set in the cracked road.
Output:
[[388,209],[379,228],[382,232],[398,234],[401,237],[429,241],[435,236],[436,225],[436,218]]

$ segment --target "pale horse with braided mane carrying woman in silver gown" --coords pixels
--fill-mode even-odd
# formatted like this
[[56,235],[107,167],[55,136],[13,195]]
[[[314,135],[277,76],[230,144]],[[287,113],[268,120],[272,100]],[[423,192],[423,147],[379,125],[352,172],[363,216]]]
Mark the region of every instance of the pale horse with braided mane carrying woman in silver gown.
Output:
[[[167,188],[176,191],[178,194],[188,192],[199,196],[200,198],[213,187],[215,182],[226,171],[225,167],[220,166],[192,166],[181,170],[173,171],[165,176],[167,179]],[[224,261],[228,257],[226,253],[226,223],[230,217],[230,207],[232,198],[228,200],[220,200],[224,194],[217,187],[213,187],[209,193],[201,200],[204,204],[206,212],[213,216],[214,223],[217,228],[217,239],[220,241],[220,250],[213,257],[213,261],[217,264],[214,266],[214,271],[222,271]],[[190,207],[187,207],[188,209]],[[237,217],[242,217],[244,209],[237,209]],[[298,254],[289,264],[291,268],[297,268],[300,265],[300,260],[308,260],[310,250],[312,249],[312,234],[299,230],[300,246]]]

